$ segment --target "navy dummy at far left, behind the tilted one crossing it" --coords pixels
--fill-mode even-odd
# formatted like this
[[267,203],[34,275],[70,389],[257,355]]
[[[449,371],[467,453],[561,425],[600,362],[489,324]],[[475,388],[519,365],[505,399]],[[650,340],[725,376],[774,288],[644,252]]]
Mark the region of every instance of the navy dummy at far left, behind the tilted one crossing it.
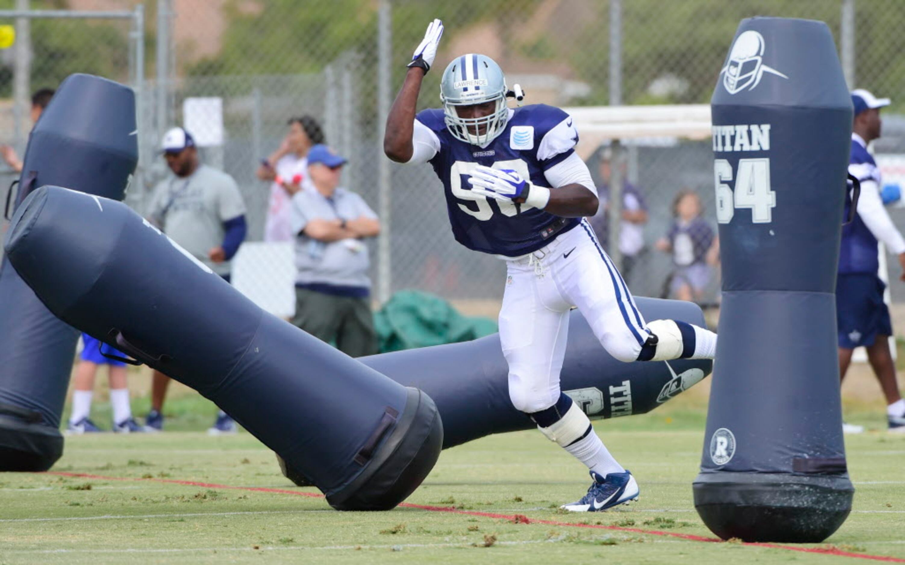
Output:
[[[16,206],[43,184],[122,200],[138,162],[136,133],[132,89],[71,75],[29,137]],[[78,338],[78,330],[52,315],[4,259],[0,471],[45,471],[62,456],[60,417]]]

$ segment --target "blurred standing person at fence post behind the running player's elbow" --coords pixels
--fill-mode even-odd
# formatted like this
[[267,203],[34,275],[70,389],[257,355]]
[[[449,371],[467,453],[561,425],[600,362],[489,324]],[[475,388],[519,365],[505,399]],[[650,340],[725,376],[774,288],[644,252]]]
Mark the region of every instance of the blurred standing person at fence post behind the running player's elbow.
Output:
[[[612,173],[612,155],[609,147],[604,147],[600,152],[600,184],[597,185],[600,208],[594,216],[588,218],[588,222],[594,229],[597,240],[600,240],[604,249],[610,249],[610,176]],[[647,251],[644,241],[644,224],[647,223],[647,202],[638,187],[630,183],[625,177],[626,168],[623,164],[623,205],[622,222],[619,225],[619,252],[622,253],[622,273],[625,280],[631,281],[632,270],[638,264],[643,254]]]

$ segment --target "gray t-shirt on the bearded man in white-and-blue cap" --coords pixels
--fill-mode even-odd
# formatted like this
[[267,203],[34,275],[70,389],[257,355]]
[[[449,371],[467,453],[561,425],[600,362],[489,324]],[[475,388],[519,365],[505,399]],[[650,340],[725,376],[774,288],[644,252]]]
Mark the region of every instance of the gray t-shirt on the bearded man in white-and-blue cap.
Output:
[[223,244],[223,222],[245,213],[245,202],[233,177],[201,165],[182,178],[175,174],[154,188],[151,220],[196,259],[218,275],[230,273],[230,261],[214,263],[207,252]]

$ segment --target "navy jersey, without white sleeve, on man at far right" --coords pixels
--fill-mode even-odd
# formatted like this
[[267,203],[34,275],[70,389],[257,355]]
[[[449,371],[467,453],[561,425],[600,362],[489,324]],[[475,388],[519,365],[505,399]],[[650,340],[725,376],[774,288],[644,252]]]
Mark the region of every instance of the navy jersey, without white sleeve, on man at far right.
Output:
[[[858,141],[852,140],[852,153],[849,159],[849,173],[858,177],[861,182],[874,182],[881,186],[880,169],[867,148]],[[843,218],[849,217],[852,208],[852,195],[845,193],[845,212]],[[880,268],[877,259],[877,238],[862,220],[861,214],[855,214],[854,220],[843,226],[842,249],[839,253],[840,273],[876,273]]]

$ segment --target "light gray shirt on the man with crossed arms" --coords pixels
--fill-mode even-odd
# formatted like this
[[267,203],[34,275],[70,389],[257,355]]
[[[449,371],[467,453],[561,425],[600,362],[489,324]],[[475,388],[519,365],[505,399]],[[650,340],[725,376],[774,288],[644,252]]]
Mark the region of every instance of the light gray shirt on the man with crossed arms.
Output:
[[339,287],[371,287],[367,245],[361,240],[319,241],[303,235],[311,220],[355,220],[377,214],[361,196],[337,188],[331,198],[317,189],[302,190],[292,196],[291,225],[295,238],[296,284],[326,284]]

